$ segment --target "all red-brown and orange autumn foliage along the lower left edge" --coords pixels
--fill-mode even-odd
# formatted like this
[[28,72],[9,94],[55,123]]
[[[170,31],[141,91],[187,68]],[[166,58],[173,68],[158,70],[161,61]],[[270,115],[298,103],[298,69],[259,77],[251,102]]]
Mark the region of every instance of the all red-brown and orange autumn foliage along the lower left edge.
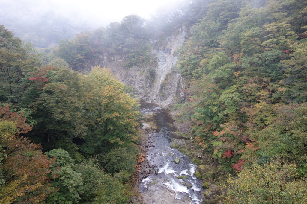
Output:
[[39,203],[55,191],[49,183],[54,160],[20,136],[32,129],[25,121],[23,113],[10,111],[10,104],[0,106],[1,203]]

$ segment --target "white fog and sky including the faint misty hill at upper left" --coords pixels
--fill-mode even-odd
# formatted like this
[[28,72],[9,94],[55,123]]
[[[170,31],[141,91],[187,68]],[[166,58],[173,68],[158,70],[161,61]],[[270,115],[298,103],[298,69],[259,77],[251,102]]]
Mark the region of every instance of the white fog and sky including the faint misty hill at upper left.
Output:
[[[52,46],[84,30],[106,27],[127,15],[149,19],[159,7],[171,7],[179,0],[156,1],[0,1],[0,25],[35,47]],[[169,6],[162,6],[170,3]]]

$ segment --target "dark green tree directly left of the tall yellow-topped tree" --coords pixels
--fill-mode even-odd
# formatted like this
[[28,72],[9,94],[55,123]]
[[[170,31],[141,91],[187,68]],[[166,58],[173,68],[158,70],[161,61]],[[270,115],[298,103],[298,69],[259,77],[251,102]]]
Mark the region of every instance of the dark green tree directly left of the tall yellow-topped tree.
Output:
[[[54,68],[45,75],[48,83],[35,90],[35,100],[30,104],[37,124],[29,133],[30,138],[41,143],[45,151],[64,148],[73,157],[76,153],[73,138],[85,135],[80,75],[69,68]],[[34,89],[34,87],[33,87]],[[33,100],[33,95],[28,96]]]

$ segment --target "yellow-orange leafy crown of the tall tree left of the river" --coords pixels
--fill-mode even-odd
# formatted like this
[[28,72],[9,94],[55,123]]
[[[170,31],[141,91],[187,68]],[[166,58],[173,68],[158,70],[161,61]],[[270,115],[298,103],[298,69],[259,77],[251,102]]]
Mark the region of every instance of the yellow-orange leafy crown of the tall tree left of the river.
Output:
[[[110,70],[96,66],[86,79],[85,107],[99,127],[105,148],[129,145],[137,140],[138,103],[124,91]],[[112,145],[111,145],[112,144]],[[125,144],[125,145],[123,145]],[[109,147],[110,146],[110,147]]]

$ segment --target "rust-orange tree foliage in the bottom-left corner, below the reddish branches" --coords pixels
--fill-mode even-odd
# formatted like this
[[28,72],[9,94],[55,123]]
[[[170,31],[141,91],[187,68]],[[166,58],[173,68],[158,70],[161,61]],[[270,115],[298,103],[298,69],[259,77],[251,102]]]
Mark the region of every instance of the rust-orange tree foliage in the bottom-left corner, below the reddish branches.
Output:
[[56,191],[50,188],[49,183],[54,161],[49,160],[38,148],[39,145],[34,145],[25,138],[13,138],[9,141],[5,152],[8,157],[2,165],[6,183],[0,193],[1,203],[9,200],[39,203]]

